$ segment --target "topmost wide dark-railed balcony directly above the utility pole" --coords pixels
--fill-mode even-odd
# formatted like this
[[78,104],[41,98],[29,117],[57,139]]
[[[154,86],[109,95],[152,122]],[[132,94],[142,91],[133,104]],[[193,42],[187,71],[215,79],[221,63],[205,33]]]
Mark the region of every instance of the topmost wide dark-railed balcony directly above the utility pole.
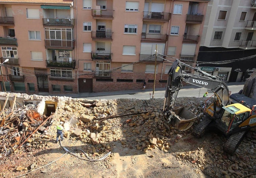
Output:
[[171,13],[167,12],[143,12],[143,21],[168,22],[171,19]]

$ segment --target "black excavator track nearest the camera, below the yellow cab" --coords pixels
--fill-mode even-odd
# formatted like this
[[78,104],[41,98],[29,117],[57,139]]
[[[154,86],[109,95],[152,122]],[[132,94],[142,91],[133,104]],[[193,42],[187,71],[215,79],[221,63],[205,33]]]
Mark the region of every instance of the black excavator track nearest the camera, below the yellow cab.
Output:
[[236,148],[240,145],[241,141],[243,140],[245,134],[246,131],[232,134],[226,141],[223,149],[228,153],[234,153]]

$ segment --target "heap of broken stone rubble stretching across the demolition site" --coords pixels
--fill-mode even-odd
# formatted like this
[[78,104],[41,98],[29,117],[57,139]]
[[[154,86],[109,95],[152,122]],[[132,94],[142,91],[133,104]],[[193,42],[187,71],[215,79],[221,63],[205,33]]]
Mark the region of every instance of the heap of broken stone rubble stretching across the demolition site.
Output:
[[[65,123],[64,142],[68,142],[67,148],[79,142],[91,156],[100,157],[111,151],[117,143],[121,143],[123,148],[134,148],[140,152],[139,154],[150,154],[155,149],[171,153],[178,161],[203,171],[209,177],[239,178],[248,175],[249,178],[254,178],[256,159],[255,154],[252,153],[256,151],[255,130],[247,134],[234,155],[229,155],[222,149],[226,139],[223,135],[210,133],[207,140],[199,140],[191,135],[193,128],[182,132],[170,127],[162,114],[163,99],[85,100],[68,97],[44,98],[25,94],[24,97],[57,101],[58,104],[52,118],[18,149],[20,155],[22,152],[43,150],[49,146],[50,140],[55,140],[56,127],[62,121]],[[182,97],[176,100],[176,106],[189,107],[199,117],[198,119],[201,119],[201,113],[212,101],[212,98],[205,101],[202,98]],[[19,121],[13,122],[9,127],[0,127],[1,158],[5,158],[8,151],[14,150],[15,145],[22,143],[24,138],[27,138],[45,120],[43,116],[39,117],[42,118],[41,120],[34,119],[31,114],[34,108],[26,108],[14,114]],[[8,112],[8,109],[5,109],[5,113]],[[23,113],[26,117],[22,117]],[[24,133],[26,134],[23,135]],[[19,142],[17,137],[20,137]],[[189,151],[175,150],[176,145],[183,142],[188,145]],[[4,161],[0,159],[1,165],[6,164],[7,161],[8,158]],[[15,168],[20,170],[22,169],[18,166],[22,169],[25,167],[17,165]]]

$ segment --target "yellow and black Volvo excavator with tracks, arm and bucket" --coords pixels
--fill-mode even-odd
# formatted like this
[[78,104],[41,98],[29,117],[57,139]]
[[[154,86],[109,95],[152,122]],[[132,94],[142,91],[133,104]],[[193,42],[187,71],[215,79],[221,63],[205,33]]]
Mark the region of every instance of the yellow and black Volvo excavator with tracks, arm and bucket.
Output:
[[[199,72],[202,76],[182,71],[182,65]],[[251,100],[250,104],[242,101],[230,104],[229,89],[223,78],[210,75],[177,59],[168,72],[163,115],[170,125],[182,131],[190,128],[197,119],[188,107],[175,109],[175,101],[182,88],[182,82],[207,88],[214,93],[213,103],[206,108],[201,121],[194,127],[194,135],[202,137],[210,127],[217,128],[228,138],[224,150],[234,153],[246,132],[256,127],[256,101],[247,97]]]

